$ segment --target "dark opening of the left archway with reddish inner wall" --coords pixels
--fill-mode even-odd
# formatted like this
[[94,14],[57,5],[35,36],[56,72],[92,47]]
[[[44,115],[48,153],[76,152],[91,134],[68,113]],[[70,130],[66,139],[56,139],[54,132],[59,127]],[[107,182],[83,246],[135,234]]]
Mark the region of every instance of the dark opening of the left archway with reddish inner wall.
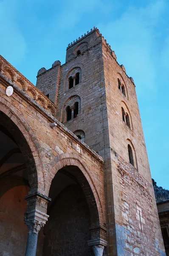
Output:
[[29,178],[31,172],[37,176],[34,157],[23,133],[10,117],[0,112],[0,254],[25,254],[28,229],[23,221],[24,197],[30,186],[36,187]]

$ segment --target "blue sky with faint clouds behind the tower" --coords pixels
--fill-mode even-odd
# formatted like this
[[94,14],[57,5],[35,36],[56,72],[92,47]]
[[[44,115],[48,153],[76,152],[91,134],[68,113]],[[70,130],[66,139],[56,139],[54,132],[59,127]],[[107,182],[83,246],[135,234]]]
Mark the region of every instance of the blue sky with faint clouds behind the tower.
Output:
[[135,81],[152,177],[169,189],[168,0],[0,0],[0,54],[36,84],[93,26]]

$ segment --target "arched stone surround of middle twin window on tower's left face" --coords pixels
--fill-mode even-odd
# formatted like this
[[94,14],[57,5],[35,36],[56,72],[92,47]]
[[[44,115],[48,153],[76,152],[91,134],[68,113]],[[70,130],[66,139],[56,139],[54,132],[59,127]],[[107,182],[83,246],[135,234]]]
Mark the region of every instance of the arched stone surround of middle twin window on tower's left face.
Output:
[[[79,113],[81,113],[81,98],[78,95],[70,96],[64,103],[61,109],[61,122],[66,122],[66,108],[68,106],[73,107],[75,102],[79,103]],[[78,113],[78,114],[79,114]]]

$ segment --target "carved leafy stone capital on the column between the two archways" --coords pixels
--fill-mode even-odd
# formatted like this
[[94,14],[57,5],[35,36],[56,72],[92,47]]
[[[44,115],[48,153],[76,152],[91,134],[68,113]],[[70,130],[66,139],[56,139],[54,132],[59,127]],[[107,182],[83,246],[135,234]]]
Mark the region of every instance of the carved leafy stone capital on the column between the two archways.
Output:
[[24,222],[28,226],[28,233],[39,233],[41,227],[44,227],[46,221],[48,221],[48,217],[49,215],[37,209],[25,212]]

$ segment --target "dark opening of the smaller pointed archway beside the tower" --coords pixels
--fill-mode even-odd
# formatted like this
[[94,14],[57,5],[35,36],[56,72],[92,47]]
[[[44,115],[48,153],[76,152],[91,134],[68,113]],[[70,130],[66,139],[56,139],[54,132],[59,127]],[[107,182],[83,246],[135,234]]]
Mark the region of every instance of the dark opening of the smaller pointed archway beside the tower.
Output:
[[99,214],[90,185],[77,166],[62,167],[49,191],[43,256],[91,256],[89,228],[99,225]]

